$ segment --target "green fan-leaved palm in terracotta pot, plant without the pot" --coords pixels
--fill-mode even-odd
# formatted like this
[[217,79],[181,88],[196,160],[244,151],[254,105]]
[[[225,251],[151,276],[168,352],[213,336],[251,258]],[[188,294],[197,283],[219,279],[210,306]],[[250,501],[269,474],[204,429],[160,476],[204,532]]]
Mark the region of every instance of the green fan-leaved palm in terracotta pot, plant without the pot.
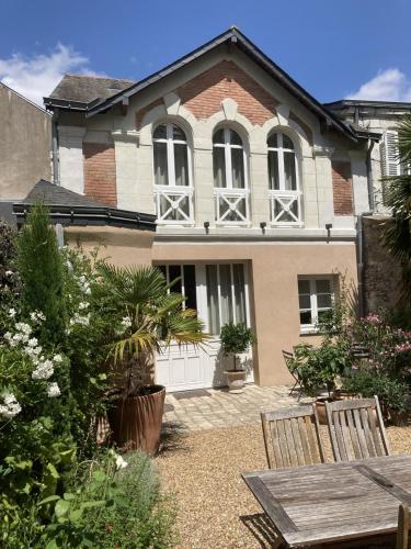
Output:
[[118,316],[122,328],[113,330],[109,357],[126,370],[126,395],[141,391],[150,380],[156,352],[172,341],[179,345],[204,341],[202,322],[185,298],[171,291],[156,267],[99,265],[104,299]]

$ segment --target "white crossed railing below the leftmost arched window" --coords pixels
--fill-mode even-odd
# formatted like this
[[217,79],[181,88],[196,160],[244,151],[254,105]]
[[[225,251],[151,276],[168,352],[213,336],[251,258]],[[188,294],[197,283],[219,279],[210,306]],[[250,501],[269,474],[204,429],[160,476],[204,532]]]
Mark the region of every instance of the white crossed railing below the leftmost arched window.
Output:
[[162,225],[192,225],[193,194],[191,187],[155,186],[157,223]]

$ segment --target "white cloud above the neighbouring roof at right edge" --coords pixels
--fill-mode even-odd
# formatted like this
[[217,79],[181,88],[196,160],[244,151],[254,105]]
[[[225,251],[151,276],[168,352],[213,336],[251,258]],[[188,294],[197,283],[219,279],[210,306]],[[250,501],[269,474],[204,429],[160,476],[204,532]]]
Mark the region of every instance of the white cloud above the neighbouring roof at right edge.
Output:
[[411,81],[398,68],[380,70],[346,99],[368,101],[411,101]]

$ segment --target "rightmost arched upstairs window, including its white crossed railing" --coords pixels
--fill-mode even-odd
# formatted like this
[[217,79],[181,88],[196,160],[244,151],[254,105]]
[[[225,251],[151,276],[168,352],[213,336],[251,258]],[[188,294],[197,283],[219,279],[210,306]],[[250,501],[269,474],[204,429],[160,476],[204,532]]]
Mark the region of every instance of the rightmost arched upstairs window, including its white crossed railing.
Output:
[[288,135],[273,133],[267,139],[271,222],[301,224],[296,149]]

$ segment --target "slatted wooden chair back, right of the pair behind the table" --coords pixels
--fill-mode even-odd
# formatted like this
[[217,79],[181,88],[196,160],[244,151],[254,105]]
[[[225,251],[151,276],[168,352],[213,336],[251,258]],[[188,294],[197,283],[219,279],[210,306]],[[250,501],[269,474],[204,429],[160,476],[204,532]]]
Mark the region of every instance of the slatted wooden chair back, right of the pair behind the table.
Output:
[[326,402],[335,461],[389,456],[378,396]]

